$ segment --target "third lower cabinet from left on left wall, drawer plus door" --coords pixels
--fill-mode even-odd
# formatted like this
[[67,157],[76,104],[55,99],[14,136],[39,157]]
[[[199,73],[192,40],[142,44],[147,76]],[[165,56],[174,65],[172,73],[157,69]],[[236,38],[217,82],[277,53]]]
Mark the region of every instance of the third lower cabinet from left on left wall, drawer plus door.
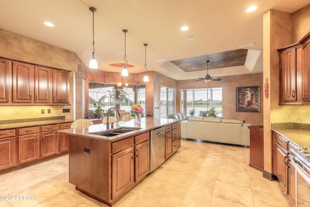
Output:
[[57,154],[57,130],[57,124],[41,127],[41,158]]

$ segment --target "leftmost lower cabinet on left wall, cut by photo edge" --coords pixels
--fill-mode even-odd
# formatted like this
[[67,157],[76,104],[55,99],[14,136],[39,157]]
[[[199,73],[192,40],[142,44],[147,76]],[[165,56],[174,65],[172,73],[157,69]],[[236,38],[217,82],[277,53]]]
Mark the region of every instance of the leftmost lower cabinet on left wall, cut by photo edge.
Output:
[[15,166],[15,129],[0,131],[0,170]]

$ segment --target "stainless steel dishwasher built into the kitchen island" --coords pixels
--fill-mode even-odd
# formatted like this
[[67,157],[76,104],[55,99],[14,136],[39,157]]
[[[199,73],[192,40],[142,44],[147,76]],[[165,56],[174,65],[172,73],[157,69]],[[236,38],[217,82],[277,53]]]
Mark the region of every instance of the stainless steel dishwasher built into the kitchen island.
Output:
[[153,172],[165,161],[166,127],[151,130],[150,172]]

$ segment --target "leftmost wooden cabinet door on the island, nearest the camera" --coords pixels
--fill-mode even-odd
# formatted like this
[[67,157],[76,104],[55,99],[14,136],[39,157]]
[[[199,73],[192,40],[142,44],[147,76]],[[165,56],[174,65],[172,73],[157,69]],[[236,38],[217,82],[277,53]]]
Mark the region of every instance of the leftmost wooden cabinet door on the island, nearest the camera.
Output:
[[134,147],[112,155],[112,200],[130,191],[135,178]]

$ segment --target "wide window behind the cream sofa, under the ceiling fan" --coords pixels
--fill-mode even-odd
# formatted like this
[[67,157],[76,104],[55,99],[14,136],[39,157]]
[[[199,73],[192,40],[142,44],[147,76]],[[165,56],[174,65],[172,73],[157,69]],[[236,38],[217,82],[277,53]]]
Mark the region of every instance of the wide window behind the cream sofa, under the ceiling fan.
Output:
[[217,116],[222,116],[222,88],[200,88],[181,90],[181,112],[190,116],[199,116],[200,111],[215,108]]

